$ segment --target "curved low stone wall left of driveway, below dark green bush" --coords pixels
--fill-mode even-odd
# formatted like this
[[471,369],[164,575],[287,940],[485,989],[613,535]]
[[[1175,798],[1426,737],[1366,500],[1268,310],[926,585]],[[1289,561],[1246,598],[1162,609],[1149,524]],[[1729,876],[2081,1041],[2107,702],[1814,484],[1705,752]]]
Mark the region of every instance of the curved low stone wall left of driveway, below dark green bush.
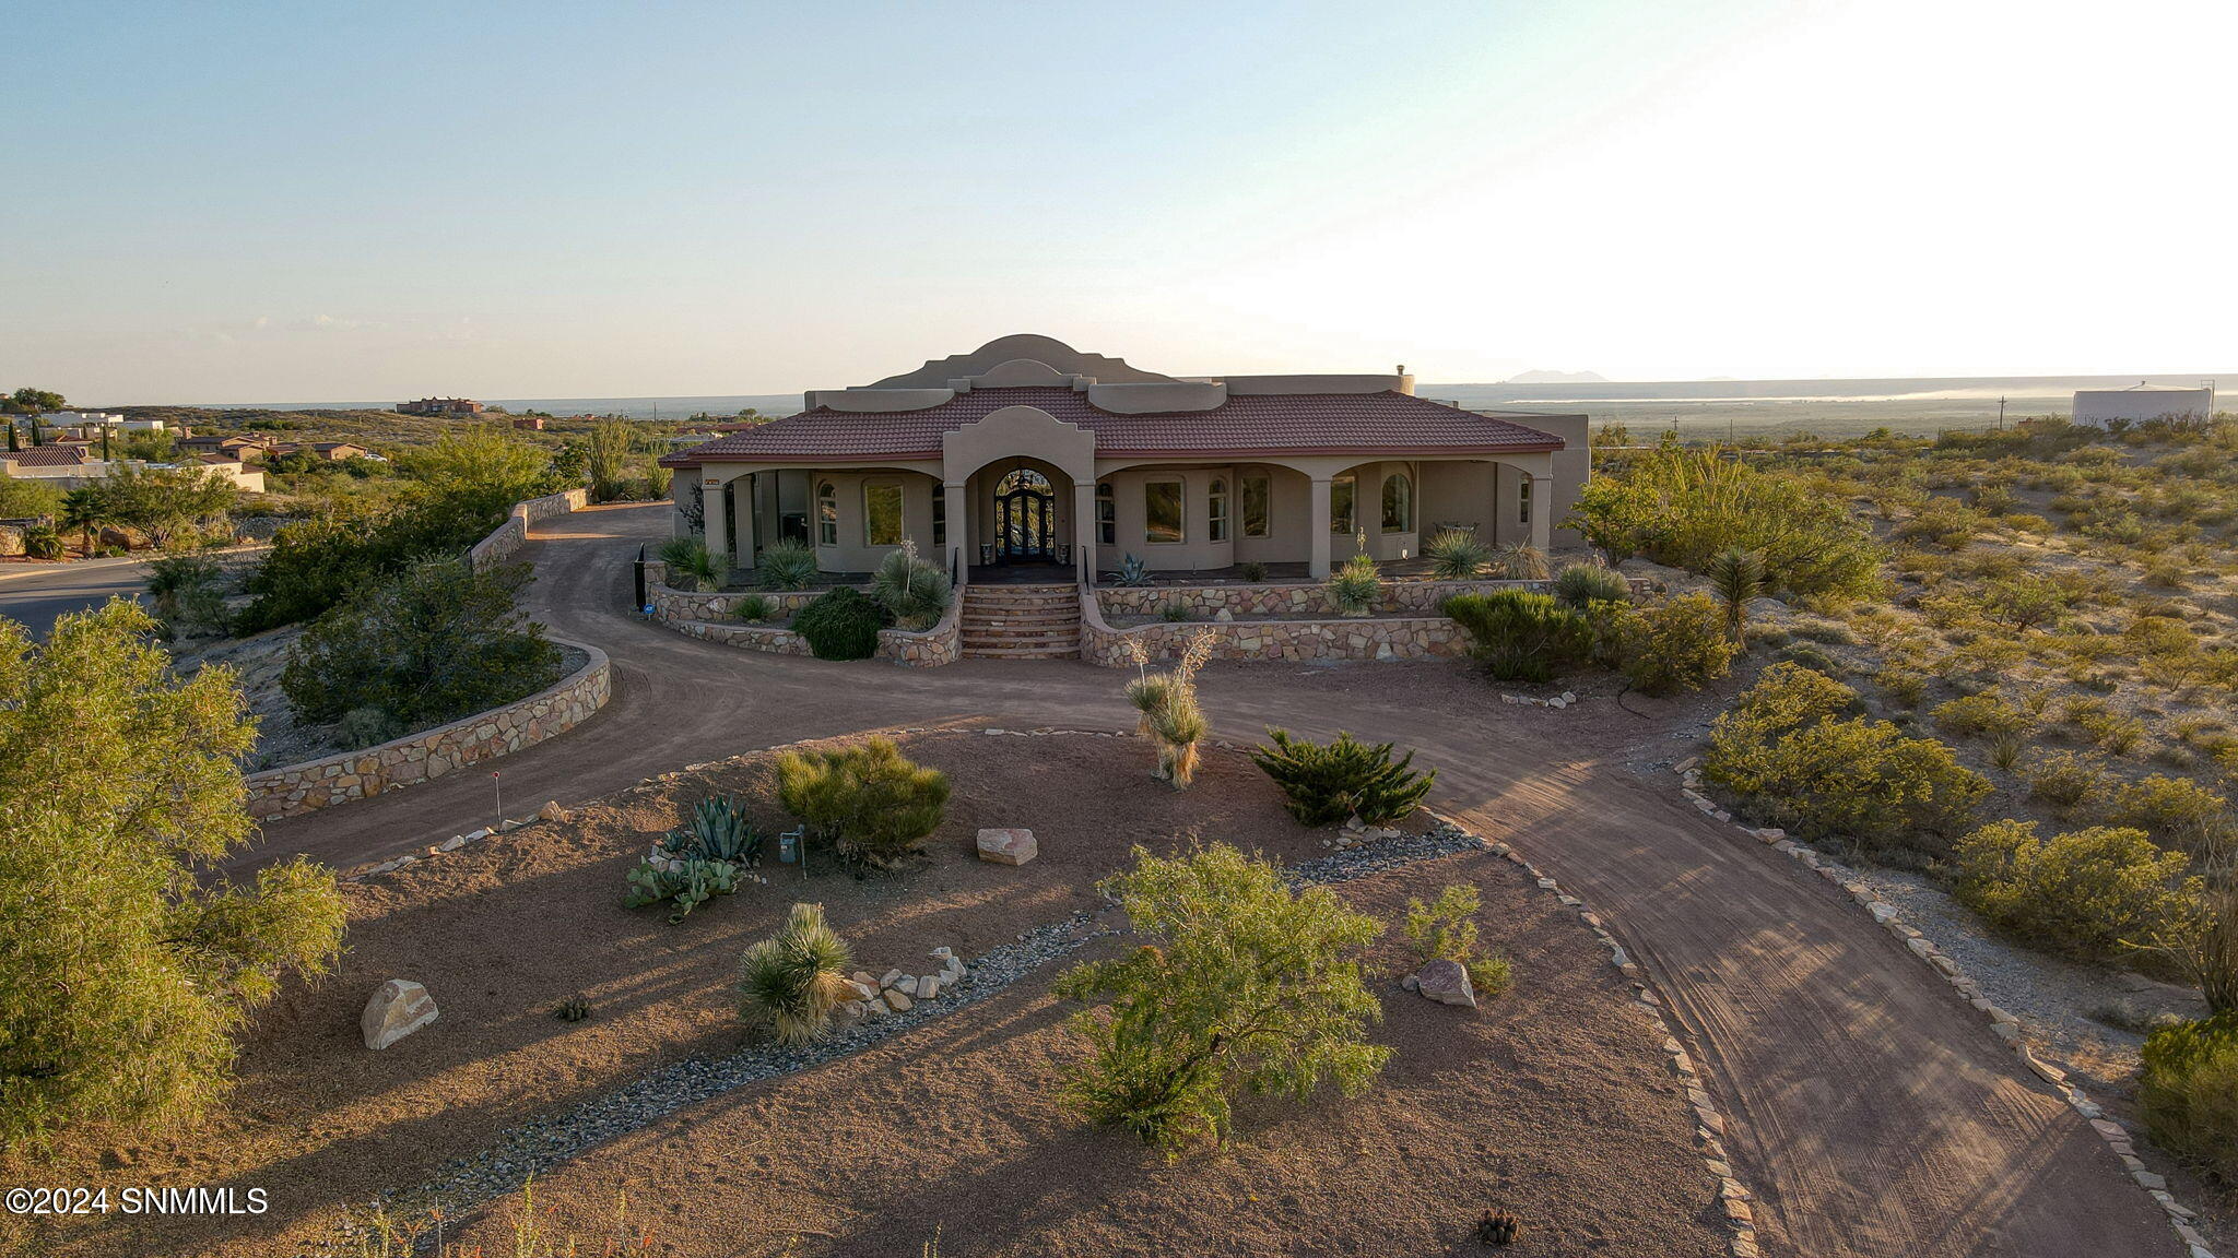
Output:
[[589,663],[544,692],[450,725],[363,752],[342,752],[251,774],[248,813],[260,822],[271,822],[351,799],[372,799],[573,730],[606,705],[613,694],[613,672],[606,651],[589,642],[553,640],[586,654]]

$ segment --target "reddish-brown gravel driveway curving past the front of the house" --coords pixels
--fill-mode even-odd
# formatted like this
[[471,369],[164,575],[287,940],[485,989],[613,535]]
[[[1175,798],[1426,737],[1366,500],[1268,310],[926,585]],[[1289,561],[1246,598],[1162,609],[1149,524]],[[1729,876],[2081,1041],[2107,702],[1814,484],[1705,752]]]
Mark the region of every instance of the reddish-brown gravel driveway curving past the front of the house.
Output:
[[[598,508],[537,528],[526,553],[539,571],[535,613],[604,647],[618,678],[595,719],[499,761],[510,799],[589,799],[685,763],[877,725],[1135,723],[1117,674],[1081,663],[830,665],[638,622],[629,560],[665,522],[658,506]],[[1457,665],[1215,665],[1204,694],[1220,736],[1343,725],[1421,748],[1446,810],[1515,839],[1609,913],[1708,1063],[1728,1144],[1761,1198],[1766,1254],[2180,1254],[2104,1144],[1945,983],[1824,880],[1681,806],[1667,772],[1632,768],[1667,759],[1670,743],[1582,710],[1486,705]],[[289,851],[333,864],[394,855],[488,819],[488,777],[461,774],[278,822],[244,864]]]

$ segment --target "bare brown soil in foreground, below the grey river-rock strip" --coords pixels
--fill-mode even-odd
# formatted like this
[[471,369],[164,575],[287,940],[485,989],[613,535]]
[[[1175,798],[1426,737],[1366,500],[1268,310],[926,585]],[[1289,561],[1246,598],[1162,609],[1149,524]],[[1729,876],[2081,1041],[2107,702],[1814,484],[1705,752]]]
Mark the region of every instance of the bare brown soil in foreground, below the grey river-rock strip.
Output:
[[[873,1052],[671,1115],[537,1184],[537,1218],[611,1236],[627,1191],[647,1254],[741,1258],[1484,1254],[1475,1218],[1526,1220],[1511,1254],[1708,1256],[1714,1180],[1685,1097],[1629,989],[1578,920],[1497,857],[1468,853],[1347,884],[1379,918],[1446,882],[1486,893],[1486,940],[1520,987],[1482,1014],[1372,974],[1397,1050],[1365,1097],[1240,1110],[1226,1155],[1168,1162],[1054,1099],[1081,1057],[1068,1007],[1032,983]],[[468,1233],[510,1238],[510,1202]],[[551,1213],[546,1213],[551,1211]]]

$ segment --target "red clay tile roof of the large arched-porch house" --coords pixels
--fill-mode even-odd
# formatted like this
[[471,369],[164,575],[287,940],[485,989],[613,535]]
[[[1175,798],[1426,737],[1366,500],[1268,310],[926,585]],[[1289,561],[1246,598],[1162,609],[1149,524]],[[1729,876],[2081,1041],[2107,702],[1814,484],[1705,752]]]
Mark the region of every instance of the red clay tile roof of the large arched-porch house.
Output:
[[1560,450],[1562,439],[1508,419],[1473,414],[1399,392],[1242,394],[1213,410],[1110,414],[1072,389],[971,389],[924,410],[817,407],[705,445],[662,454],[665,468],[703,461],[862,463],[938,459],[940,436],[1007,405],[1029,405],[1097,434],[1103,459],[1280,454],[1468,454]]

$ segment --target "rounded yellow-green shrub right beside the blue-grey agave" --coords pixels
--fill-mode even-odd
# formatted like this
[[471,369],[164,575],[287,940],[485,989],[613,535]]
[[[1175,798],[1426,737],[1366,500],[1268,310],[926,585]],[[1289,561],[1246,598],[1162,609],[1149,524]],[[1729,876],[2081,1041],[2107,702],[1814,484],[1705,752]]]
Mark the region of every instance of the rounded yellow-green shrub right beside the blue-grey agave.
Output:
[[777,801],[841,857],[888,869],[940,828],[949,777],[909,761],[891,739],[868,739],[779,757]]

